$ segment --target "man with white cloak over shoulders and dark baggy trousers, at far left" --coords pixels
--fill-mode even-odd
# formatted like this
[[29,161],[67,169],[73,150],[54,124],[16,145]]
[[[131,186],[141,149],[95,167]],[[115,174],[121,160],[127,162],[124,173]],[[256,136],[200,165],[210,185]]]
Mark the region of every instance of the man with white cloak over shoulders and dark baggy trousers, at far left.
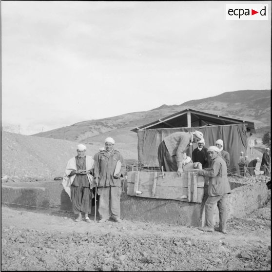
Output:
[[82,220],[81,213],[84,213],[84,220],[90,223],[88,214],[91,214],[92,188],[95,186],[94,159],[92,156],[85,155],[85,151],[86,146],[79,144],[78,155],[67,162],[62,185],[71,198],[74,214],[78,215],[75,221],[80,222]]

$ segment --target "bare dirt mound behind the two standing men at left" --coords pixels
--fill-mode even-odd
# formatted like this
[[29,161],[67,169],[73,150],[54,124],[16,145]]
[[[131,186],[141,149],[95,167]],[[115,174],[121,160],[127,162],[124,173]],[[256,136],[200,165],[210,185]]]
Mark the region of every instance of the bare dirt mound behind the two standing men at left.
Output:
[[[1,133],[1,177],[4,180],[35,181],[54,179],[64,174],[65,166],[71,157],[77,155],[77,142],[24,136],[15,133]],[[99,144],[86,144],[86,155],[94,156]],[[137,158],[128,150],[117,149],[126,159]]]

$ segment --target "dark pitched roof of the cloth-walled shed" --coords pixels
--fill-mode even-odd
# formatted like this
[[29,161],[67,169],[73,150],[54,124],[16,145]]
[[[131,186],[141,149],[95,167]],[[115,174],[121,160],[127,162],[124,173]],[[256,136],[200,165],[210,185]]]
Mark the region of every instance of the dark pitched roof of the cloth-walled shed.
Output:
[[136,127],[131,131],[137,132],[137,130],[142,129],[188,127],[187,113],[190,113],[191,115],[191,127],[200,127],[207,125],[218,126],[218,125],[245,124],[252,133],[256,133],[254,122],[233,117],[227,117],[223,115],[216,115],[207,112],[197,111],[189,108],[166,117],[161,117],[160,119],[157,119],[153,122]]

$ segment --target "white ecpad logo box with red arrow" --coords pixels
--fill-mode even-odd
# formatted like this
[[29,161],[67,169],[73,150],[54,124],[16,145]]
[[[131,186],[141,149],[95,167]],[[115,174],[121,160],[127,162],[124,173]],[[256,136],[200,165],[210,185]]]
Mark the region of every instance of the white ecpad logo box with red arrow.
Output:
[[268,4],[226,4],[226,20],[268,20]]

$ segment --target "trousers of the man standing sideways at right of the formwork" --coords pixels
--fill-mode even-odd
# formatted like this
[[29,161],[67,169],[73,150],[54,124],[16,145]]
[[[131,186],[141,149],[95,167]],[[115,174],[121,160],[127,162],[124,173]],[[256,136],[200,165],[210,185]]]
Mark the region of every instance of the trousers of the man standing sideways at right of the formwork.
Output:
[[214,228],[214,206],[217,203],[217,207],[219,210],[219,229],[226,229],[227,196],[228,194],[208,196],[205,202],[205,218],[206,226],[208,226],[209,228]]

